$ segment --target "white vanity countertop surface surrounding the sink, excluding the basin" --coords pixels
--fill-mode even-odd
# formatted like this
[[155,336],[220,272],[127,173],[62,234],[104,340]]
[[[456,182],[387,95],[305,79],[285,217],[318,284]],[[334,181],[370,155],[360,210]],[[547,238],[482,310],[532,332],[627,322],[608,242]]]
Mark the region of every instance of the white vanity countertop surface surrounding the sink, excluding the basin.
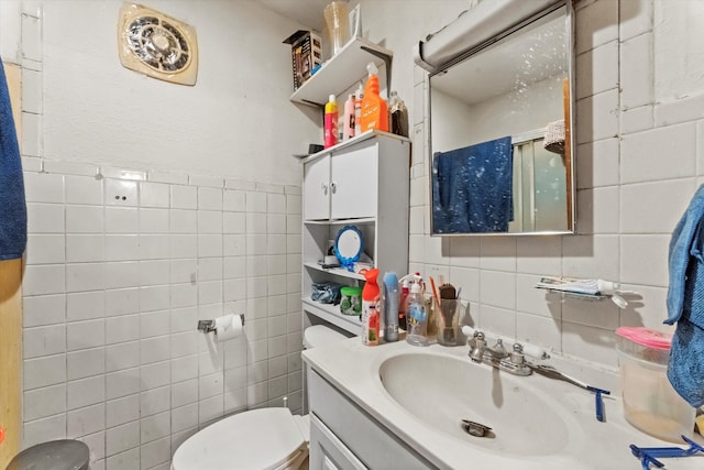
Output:
[[[539,450],[538,455],[510,455],[487,449],[486,446],[477,446],[472,442],[472,439],[477,438],[466,436],[466,439],[459,439],[430,427],[407,412],[386,392],[378,374],[381,363],[388,358],[408,352],[449,354],[471,362],[466,357],[466,346],[447,348],[431,345],[428,348],[418,348],[398,341],[365,347],[358,337],[305,350],[302,357],[309,367],[358,406],[439,468],[638,470],[642,466],[640,459],[631,453],[630,444],[639,447],[686,447],[650,437],[625,420],[618,392],[618,374],[615,371],[598,370],[556,356],[546,363],[594,386],[612,391],[612,395],[604,395],[606,422],[600,423],[595,418],[594,395],[574,385],[535,373],[527,378],[512,379],[503,379],[503,375],[499,375],[507,384],[510,380],[527,381],[526,384],[532,390],[544,394],[547,403],[554,403],[556,409],[560,411],[560,416],[564,419],[569,438],[560,450],[548,455],[539,455]],[[491,369],[486,364],[472,365]],[[508,375],[503,371],[498,373]],[[419,396],[418,406],[442,405],[433,403],[430,396]],[[461,417],[464,416],[458,416],[458,419]],[[491,426],[491,423],[484,424]],[[516,423],[516,426],[520,426],[520,423]],[[700,438],[696,440],[700,444],[704,441]],[[670,470],[704,468],[704,455],[660,460],[666,464],[664,468]]]

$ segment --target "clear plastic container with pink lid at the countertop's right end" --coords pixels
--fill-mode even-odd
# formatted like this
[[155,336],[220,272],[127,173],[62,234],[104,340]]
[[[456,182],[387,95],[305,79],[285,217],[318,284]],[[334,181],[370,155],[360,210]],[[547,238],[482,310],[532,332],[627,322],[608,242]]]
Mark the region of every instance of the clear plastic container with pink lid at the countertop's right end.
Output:
[[667,376],[672,337],[644,327],[620,327],[616,335],[626,420],[671,442],[691,438],[696,411]]

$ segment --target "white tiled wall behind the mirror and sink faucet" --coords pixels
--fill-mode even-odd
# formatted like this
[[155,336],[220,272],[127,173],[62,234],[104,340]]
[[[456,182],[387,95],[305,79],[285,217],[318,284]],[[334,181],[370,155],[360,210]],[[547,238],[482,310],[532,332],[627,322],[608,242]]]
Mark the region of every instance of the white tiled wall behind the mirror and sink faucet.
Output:
[[[607,367],[617,363],[618,326],[669,329],[662,325],[668,243],[704,175],[697,145],[704,122],[695,54],[701,44],[696,34],[685,32],[701,30],[701,14],[694,11],[700,7],[693,3],[578,3],[578,234],[443,239],[428,234],[426,77],[411,68],[410,51],[469,4],[362,1],[371,39],[384,40],[395,52],[392,86],[407,101],[415,125],[411,271],[443,274],[461,285],[482,328]],[[686,28],[671,34],[683,17]],[[673,61],[688,66],[675,67]],[[679,75],[674,88],[663,78],[673,74]],[[546,274],[618,281],[640,296],[625,310],[610,302],[561,299],[534,288]]]

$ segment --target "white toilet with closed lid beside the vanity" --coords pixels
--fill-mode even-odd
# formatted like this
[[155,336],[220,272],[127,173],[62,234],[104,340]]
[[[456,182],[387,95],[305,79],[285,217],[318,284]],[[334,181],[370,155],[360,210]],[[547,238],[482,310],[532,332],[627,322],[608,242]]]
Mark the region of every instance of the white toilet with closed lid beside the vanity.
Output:
[[[346,339],[323,325],[304,331],[304,346],[318,348]],[[304,387],[305,392],[305,387]],[[228,416],[186,439],[172,470],[304,470],[308,468],[308,415],[288,408],[260,408]]]

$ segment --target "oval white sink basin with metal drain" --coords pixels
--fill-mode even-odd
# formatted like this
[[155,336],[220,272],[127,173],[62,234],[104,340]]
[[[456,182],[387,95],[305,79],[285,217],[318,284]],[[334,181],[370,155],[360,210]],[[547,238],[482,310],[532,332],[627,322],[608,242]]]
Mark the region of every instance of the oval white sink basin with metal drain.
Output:
[[[403,353],[380,367],[391,397],[424,424],[455,439],[487,450],[522,456],[559,452],[569,441],[558,396],[521,378],[470,358]],[[462,419],[492,428],[484,437],[470,435]]]

